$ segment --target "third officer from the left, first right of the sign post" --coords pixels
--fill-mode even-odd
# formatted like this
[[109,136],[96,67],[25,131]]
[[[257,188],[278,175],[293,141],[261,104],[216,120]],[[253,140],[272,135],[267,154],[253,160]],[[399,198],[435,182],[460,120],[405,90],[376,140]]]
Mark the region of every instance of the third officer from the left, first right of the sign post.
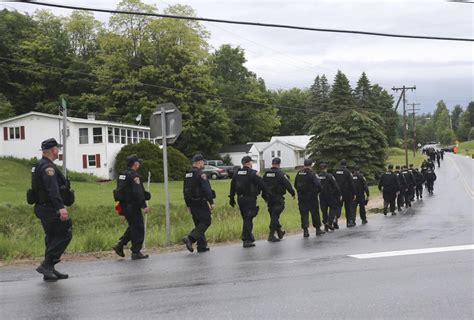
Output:
[[195,228],[183,238],[183,243],[189,252],[193,252],[193,243],[197,242],[198,252],[207,252],[206,230],[211,225],[211,210],[214,209],[215,194],[204,168],[204,157],[196,154],[192,158],[192,168],[184,177],[184,201],[192,215]]

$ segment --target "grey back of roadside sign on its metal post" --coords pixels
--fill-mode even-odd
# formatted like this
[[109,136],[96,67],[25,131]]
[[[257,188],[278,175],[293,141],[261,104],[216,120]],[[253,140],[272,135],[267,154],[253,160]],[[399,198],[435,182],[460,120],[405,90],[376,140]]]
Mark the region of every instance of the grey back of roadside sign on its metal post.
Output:
[[170,244],[170,196],[168,189],[168,143],[173,144],[183,130],[181,111],[173,103],[158,105],[150,117],[150,134],[161,139],[163,146],[163,177],[165,184],[166,243]]

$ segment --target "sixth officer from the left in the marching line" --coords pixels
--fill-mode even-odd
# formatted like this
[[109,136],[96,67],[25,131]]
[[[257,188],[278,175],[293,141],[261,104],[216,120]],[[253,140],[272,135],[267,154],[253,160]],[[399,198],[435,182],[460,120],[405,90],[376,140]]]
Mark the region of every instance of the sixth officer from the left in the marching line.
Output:
[[295,189],[298,193],[298,208],[301,215],[301,228],[303,237],[309,237],[309,212],[313,227],[316,228],[316,235],[321,236],[325,232],[321,230],[321,218],[319,215],[318,194],[321,192],[321,182],[316,174],[311,170],[313,161],[304,160],[304,168],[298,171],[295,177]]

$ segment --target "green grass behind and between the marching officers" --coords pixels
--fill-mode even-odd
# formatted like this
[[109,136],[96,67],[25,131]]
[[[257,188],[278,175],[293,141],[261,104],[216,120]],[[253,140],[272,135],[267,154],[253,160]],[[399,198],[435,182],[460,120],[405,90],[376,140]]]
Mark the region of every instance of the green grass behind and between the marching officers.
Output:
[[[410,163],[421,163],[421,155]],[[391,150],[388,163],[403,163],[400,149]],[[43,231],[33,207],[25,202],[25,191],[29,188],[31,175],[25,163],[11,159],[0,159],[0,260],[37,257],[43,254]],[[295,172],[289,172],[292,179]],[[216,209],[212,226],[207,232],[211,242],[237,240],[240,238],[242,221],[237,208],[228,205],[230,180],[212,181],[217,193]],[[108,251],[126,228],[126,221],[114,211],[112,190],[115,182],[74,182],[76,203],[69,209],[73,219],[73,240],[70,253]],[[379,192],[370,187],[371,197]],[[152,183],[148,217],[147,247],[165,245],[165,210],[163,184]],[[297,201],[287,195],[286,210],[281,223],[285,229],[300,228]],[[176,244],[192,229],[192,220],[182,197],[182,182],[170,182],[171,241]],[[260,213],[254,220],[254,233],[263,238],[268,232],[269,217],[266,204],[259,199]]]

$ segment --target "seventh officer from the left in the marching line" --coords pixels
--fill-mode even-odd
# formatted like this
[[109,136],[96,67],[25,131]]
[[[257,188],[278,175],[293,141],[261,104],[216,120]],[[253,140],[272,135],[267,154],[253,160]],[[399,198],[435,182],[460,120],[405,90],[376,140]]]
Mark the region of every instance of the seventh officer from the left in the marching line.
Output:
[[337,214],[341,210],[340,201],[342,201],[342,196],[336,179],[331,173],[327,172],[327,165],[321,163],[319,167],[321,172],[318,174],[318,178],[322,186],[322,191],[319,194],[319,203],[323,213],[324,230],[327,232],[339,229],[336,219]]

